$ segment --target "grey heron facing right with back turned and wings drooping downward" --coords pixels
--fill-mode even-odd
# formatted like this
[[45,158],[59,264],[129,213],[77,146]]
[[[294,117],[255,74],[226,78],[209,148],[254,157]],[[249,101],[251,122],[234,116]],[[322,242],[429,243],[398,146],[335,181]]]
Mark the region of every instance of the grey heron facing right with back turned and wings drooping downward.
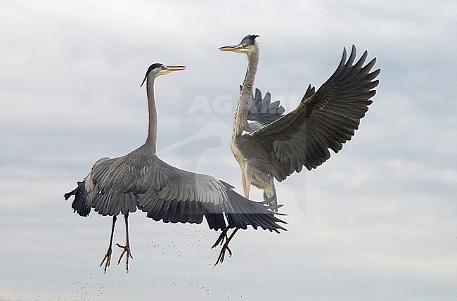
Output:
[[[112,237],[117,215],[123,214],[126,243],[119,245],[122,253],[117,264],[126,255],[129,271],[131,249],[129,244],[129,213],[137,209],[147,212],[155,221],[200,224],[205,217],[210,229],[215,231],[231,228],[285,230],[283,222],[265,206],[265,202],[254,202],[233,191],[233,186],[207,174],[196,174],[168,165],[156,154],[157,113],[154,99],[155,78],[167,73],[184,70],[184,66],[150,65],[146,76],[148,95],[149,132],[146,143],[135,151],[119,158],[101,158],[89,175],[78,182],[75,190],[65,193],[65,200],[75,196],[72,209],[82,217],[89,215],[91,208],[103,216],[112,216],[110,245],[100,266],[104,271],[110,266]],[[218,262],[224,260],[225,250],[230,252],[228,242],[223,246]]]

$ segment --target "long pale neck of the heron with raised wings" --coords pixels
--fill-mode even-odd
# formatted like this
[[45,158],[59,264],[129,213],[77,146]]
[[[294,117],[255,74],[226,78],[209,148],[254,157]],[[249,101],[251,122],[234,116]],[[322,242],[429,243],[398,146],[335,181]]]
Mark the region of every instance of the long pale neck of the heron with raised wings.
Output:
[[259,65],[259,48],[247,55],[247,71],[243,87],[241,87],[240,100],[235,113],[235,122],[233,123],[233,135],[239,136],[247,127],[247,113],[252,102],[252,87],[254,86],[255,73]]

